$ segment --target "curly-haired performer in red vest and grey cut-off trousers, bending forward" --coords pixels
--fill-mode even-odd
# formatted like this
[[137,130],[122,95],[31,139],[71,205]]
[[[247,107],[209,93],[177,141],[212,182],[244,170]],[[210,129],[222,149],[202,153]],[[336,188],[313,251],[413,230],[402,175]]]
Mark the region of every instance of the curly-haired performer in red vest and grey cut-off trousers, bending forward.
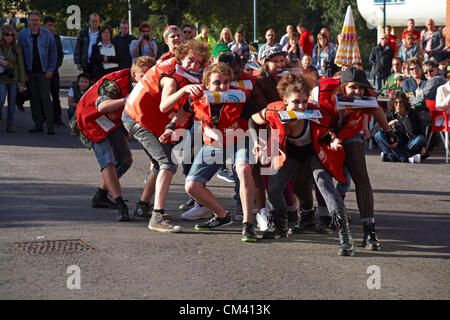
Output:
[[[175,116],[179,101],[187,95],[201,95],[200,69],[209,61],[209,47],[190,40],[175,49],[175,57],[156,64],[136,84],[128,98],[122,120],[125,129],[144,147],[153,163],[136,212],[150,218],[148,228],[159,232],[180,232],[181,227],[163,219],[165,201],[170,182],[177,170],[171,151],[176,141],[159,137],[167,131]],[[181,120],[179,127],[186,128],[190,121]],[[155,195],[151,214],[150,200]]]

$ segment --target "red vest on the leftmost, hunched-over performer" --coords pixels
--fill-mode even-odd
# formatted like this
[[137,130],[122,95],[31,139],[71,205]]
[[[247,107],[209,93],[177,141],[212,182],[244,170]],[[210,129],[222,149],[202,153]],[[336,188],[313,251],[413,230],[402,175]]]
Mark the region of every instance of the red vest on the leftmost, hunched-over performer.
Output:
[[106,79],[114,80],[120,86],[122,98],[125,98],[129,94],[130,77],[129,68],[107,74],[90,87],[78,102],[76,109],[78,126],[92,142],[103,140],[122,123],[123,108],[108,113],[98,111],[95,105],[98,88]]

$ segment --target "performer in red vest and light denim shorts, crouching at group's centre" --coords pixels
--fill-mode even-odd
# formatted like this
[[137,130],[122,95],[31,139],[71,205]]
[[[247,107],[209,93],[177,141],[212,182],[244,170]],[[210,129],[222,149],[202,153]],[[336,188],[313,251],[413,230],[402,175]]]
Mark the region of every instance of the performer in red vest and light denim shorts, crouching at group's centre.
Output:
[[[232,78],[231,68],[219,62],[205,69],[202,82],[207,90],[219,96],[221,92],[229,89]],[[256,105],[251,100],[245,103],[209,103],[204,94],[201,98],[189,99],[183,111],[193,113],[195,118],[201,121],[204,141],[186,177],[185,189],[195,201],[214,213],[210,220],[197,224],[195,229],[207,231],[232,223],[231,215],[205,186],[223,166],[228,156],[231,156],[240,183],[239,193],[243,210],[241,240],[256,241],[252,223],[255,185],[250,165],[249,140],[245,134],[248,119],[257,111]],[[173,121],[175,122],[172,123],[177,122]]]

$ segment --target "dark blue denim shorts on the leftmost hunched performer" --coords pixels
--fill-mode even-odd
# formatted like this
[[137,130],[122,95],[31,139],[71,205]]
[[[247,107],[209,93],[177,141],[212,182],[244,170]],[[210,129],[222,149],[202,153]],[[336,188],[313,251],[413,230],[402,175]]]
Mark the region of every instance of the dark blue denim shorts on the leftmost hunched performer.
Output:
[[131,158],[126,131],[122,125],[102,141],[94,142],[92,148],[101,170],[110,163],[114,163],[117,168],[126,159]]

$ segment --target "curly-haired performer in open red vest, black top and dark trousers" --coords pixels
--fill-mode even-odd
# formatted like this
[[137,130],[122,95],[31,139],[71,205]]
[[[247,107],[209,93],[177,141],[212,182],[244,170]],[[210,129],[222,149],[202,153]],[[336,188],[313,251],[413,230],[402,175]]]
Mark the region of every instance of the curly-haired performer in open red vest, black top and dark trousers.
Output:
[[[288,182],[294,179],[295,192],[297,197],[301,198],[302,193],[305,192],[305,186],[310,180],[311,168],[323,170],[314,153],[316,148],[313,148],[313,143],[317,144],[318,141],[313,141],[311,137],[313,122],[308,119],[297,120],[297,118],[294,118],[290,122],[283,123],[279,114],[280,111],[289,111],[292,114],[293,111],[317,110],[318,108],[315,105],[308,103],[308,97],[313,86],[314,80],[312,77],[299,74],[284,76],[277,86],[283,100],[269,104],[265,109],[253,115],[250,122],[250,125],[255,128],[256,125],[268,124],[272,132],[272,143],[273,141],[277,142],[280,148],[280,155],[270,155],[272,162],[280,162],[275,164],[276,167],[280,168],[269,179],[268,198],[274,208],[271,211],[274,226],[264,233],[264,239],[287,237],[287,206],[282,191]],[[323,124],[320,123],[316,126],[323,126]],[[260,146],[257,145],[256,151],[258,152],[259,149]],[[318,171],[314,171],[316,184],[320,191],[325,194],[327,205],[335,220],[342,222],[339,224],[339,255],[352,256],[354,254],[353,239],[344,202],[332,183],[321,183],[322,175],[325,172],[321,172],[321,175],[318,173]]]

